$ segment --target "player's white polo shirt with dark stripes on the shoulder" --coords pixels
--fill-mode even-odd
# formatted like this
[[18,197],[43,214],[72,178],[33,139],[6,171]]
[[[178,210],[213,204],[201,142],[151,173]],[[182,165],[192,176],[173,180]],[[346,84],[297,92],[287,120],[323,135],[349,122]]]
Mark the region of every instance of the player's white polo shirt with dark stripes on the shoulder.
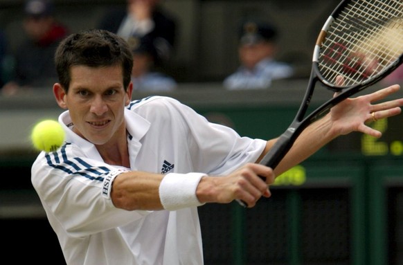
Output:
[[[197,207],[115,208],[109,181],[120,167],[106,164],[93,144],[71,131],[69,111],[59,122],[66,143],[39,154],[31,179],[67,264],[203,264]],[[210,123],[168,97],[133,101],[125,122],[129,170],[222,175],[256,161],[266,144]]]

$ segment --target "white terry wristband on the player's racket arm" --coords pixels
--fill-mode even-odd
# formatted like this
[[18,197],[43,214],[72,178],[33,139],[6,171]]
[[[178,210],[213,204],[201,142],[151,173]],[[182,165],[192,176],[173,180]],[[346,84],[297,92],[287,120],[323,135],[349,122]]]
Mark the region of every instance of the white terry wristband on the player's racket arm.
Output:
[[178,210],[203,205],[196,196],[196,188],[204,173],[166,174],[159,185],[159,197],[165,210]]

